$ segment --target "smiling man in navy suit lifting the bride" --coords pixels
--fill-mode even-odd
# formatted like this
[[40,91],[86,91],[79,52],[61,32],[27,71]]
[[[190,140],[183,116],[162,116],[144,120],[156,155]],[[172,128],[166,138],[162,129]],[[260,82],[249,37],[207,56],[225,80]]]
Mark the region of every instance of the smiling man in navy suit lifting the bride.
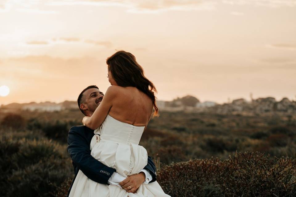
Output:
[[[86,87],[77,99],[80,111],[86,116],[91,116],[100,105],[103,97],[103,92],[97,86]],[[128,178],[121,176],[115,169],[107,167],[97,159],[94,159],[90,154],[90,142],[93,135],[93,130],[85,126],[70,128],[67,151],[72,159],[75,177],[69,188],[68,196],[79,170],[97,183],[118,185],[132,193],[136,192],[142,183],[147,184],[156,180],[155,165],[149,156],[148,163],[144,169],[139,174],[130,175]]]

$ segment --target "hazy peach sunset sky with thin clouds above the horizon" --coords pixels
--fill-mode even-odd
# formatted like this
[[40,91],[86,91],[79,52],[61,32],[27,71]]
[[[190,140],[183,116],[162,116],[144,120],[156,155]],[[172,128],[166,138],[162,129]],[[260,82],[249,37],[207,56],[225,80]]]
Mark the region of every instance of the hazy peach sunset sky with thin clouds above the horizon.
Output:
[[296,99],[296,0],[0,0],[0,104],[76,100],[134,54],[158,99]]

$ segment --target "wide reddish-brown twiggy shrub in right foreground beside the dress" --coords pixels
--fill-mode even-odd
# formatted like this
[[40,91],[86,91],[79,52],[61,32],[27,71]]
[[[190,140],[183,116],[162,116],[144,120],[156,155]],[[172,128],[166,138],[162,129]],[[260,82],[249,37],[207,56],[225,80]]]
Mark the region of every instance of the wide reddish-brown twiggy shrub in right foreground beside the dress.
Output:
[[[178,181],[176,181],[178,180]],[[245,152],[229,159],[195,159],[158,171],[158,183],[172,197],[296,195],[296,159]]]

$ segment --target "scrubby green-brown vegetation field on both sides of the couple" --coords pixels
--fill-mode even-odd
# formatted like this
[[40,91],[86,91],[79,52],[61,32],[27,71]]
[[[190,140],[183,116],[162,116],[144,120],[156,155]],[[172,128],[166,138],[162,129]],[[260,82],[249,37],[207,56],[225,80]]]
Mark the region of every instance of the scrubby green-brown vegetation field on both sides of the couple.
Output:
[[[64,196],[79,110],[0,113],[0,196]],[[161,112],[140,145],[171,196],[296,196],[296,116]],[[229,156],[230,155],[230,156]]]

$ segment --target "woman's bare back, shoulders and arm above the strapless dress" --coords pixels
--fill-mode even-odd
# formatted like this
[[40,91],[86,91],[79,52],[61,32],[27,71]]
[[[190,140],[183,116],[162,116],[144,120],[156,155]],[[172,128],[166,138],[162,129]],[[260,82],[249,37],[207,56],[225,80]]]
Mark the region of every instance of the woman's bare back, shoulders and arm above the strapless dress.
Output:
[[120,122],[147,126],[153,111],[152,99],[136,87],[109,86],[101,104],[91,117],[84,117],[85,126],[96,129],[109,114]]

